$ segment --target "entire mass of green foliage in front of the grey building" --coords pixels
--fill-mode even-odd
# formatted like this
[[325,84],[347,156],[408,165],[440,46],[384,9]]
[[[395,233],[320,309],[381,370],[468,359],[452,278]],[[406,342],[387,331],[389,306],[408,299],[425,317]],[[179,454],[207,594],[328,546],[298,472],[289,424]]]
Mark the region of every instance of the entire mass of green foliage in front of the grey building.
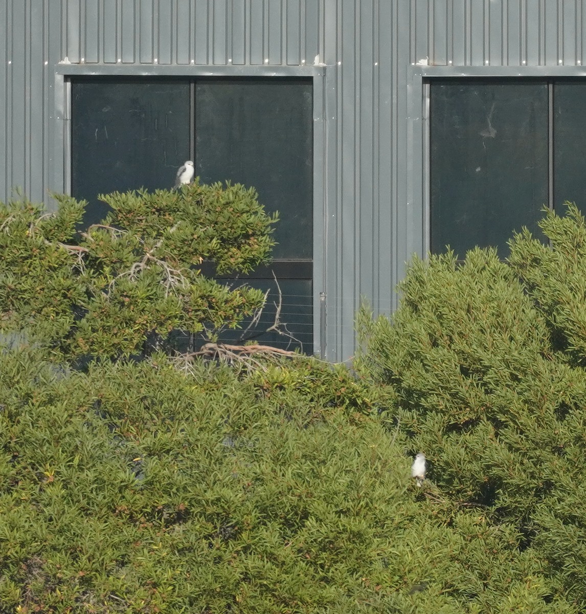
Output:
[[71,198],[0,207],[3,327],[36,342],[0,353],[0,614],[584,612],[574,206],[507,263],[415,260],[392,321],[358,314],[358,377],[163,351],[76,371],[60,365],[237,325],[260,293],[201,258],[249,271],[272,245],[241,186],[102,198],[80,234]]

